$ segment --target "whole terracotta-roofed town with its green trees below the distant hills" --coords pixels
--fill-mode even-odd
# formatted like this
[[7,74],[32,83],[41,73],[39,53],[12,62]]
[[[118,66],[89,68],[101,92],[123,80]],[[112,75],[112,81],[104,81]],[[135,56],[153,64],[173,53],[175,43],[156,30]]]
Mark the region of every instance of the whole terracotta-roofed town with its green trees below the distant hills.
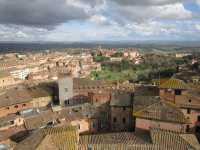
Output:
[[0,55],[0,149],[200,150],[200,53]]

